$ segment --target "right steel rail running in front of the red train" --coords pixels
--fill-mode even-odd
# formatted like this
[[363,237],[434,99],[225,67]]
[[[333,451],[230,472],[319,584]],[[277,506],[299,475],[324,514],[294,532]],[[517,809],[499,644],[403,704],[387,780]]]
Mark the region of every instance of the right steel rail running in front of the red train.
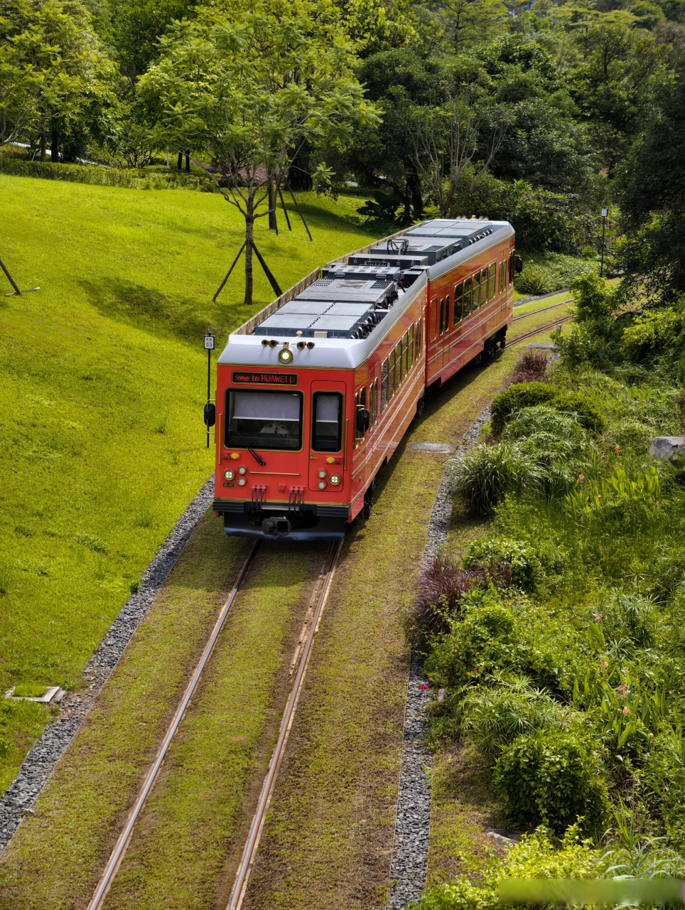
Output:
[[337,557],[340,553],[342,543],[343,541],[338,541],[337,543],[331,544],[327,553],[327,567],[325,566],[324,570],[321,573],[323,583],[321,585],[321,591],[318,595],[317,607],[311,617],[307,642],[305,642],[304,647],[300,652],[297,676],[295,677],[293,688],[287,699],[286,710],[284,711],[283,719],[281,720],[277,743],[271,755],[271,761],[269,762],[267,776],[264,780],[264,784],[262,784],[261,793],[259,794],[257,810],[252,819],[252,824],[250,824],[247,841],[245,847],[243,848],[243,853],[240,857],[240,863],[237,867],[236,881],[233,885],[230,900],[228,901],[227,910],[240,910],[243,899],[245,897],[245,893],[247,891],[247,883],[249,881],[249,876],[252,872],[252,866],[257,855],[257,847],[259,846],[259,841],[264,829],[264,823],[267,818],[268,806],[271,802],[271,796],[276,786],[278,768],[280,767],[283,754],[286,751],[287,737],[290,733],[290,727],[292,726],[293,719],[295,717],[297,700],[299,698],[299,693],[302,690],[302,683],[304,682],[305,675],[307,673],[307,665],[309,663],[309,657],[311,656],[314,637],[317,634],[318,624],[321,620],[321,614],[327,601],[331,581],[333,581],[333,573],[336,571]]

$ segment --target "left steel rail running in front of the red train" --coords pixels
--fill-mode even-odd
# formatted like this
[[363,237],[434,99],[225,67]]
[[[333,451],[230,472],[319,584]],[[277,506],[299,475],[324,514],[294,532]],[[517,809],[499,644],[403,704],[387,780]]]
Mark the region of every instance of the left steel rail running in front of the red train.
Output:
[[230,594],[228,595],[227,601],[224,603],[224,606],[221,608],[221,612],[218,615],[217,622],[215,623],[214,629],[212,630],[212,633],[209,636],[209,640],[207,641],[207,644],[205,645],[205,649],[202,652],[202,656],[200,657],[200,660],[197,663],[195,670],[193,671],[193,675],[190,679],[190,682],[188,682],[188,684],[186,686],[186,692],[183,694],[183,698],[181,699],[180,703],[178,704],[178,707],[176,708],[176,713],[174,714],[174,717],[166,731],[166,736],[164,738],[164,741],[160,745],[160,747],[156,753],[155,761],[152,763],[152,765],[150,766],[150,768],[148,769],[148,771],[146,773],[145,781],[143,782],[143,786],[141,787],[140,791],[138,792],[138,795],[136,798],[136,803],[133,805],[133,808],[131,809],[130,813],[128,814],[128,818],[126,819],[126,824],[124,825],[124,830],[121,832],[121,834],[119,834],[119,839],[116,841],[115,848],[112,851],[112,854],[110,855],[109,859],[107,860],[107,864],[105,866],[105,871],[103,872],[103,874],[100,878],[100,881],[96,887],[93,897],[91,898],[90,903],[88,904],[87,910],[100,910],[100,908],[105,903],[105,898],[106,898],[107,892],[109,891],[109,889],[112,885],[112,882],[115,879],[116,873],[119,870],[121,861],[124,858],[124,855],[126,854],[126,849],[131,840],[131,835],[133,834],[133,829],[134,829],[134,826],[138,819],[138,816],[140,815],[140,813],[143,809],[143,806],[146,804],[147,796],[150,794],[150,791],[152,790],[152,788],[155,784],[156,775],[159,772],[160,767],[162,766],[162,762],[164,761],[164,758],[165,758],[166,752],[169,748],[169,745],[171,744],[171,741],[173,740],[174,735],[176,734],[176,731],[178,730],[178,727],[179,727],[181,721],[183,720],[183,716],[186,713],[186,708],[187,708],[188,704],[190,703],[190,700],[193,697],[193,694],[196,691],[197,683],[200,681],[202,672],[204,671],[205,667],[207,666],[207,661],[209,660],[209,658],[212,655],[212,652],[214,651],[214,647],[217,644],[217,639],[219,637],[219,633],[221,632],[221,630],[224,627],[224,623],[227,620],[228,613],[231,611],[233,602],[236,600],[237,592],[240,590],[240,586],[242,585],[243,581],[245,581],[245,576],[247,575],[247,570],[249,569],[249,567],[255,557],[258,545],[259,545],[259,541],[255,541],[253,543],[249,553],[247,554],[247,559],[244,562],[242,569],[240,570],[237,580],[236,580],[235,584],[233,585],[233,588],[231,589]]

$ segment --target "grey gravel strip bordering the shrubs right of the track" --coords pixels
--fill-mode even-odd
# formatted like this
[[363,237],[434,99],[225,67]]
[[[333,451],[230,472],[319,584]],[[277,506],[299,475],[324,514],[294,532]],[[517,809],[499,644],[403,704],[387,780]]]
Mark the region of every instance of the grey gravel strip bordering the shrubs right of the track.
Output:
[[[482,410],[448,461],[433,503],[428,523],[428,543],[424,565],[434,560],[448,540],[452,515],[450,483],[458,460],[478,441],[480,430],[490,418],[490,406]],[[428,679],[417,653],[412,653],[407,684],[402,765],[399,773],[398,814],[390,860],[390,897],[388,910],[405,910],[420,900],[426,888],[428,845],[430,841],[430,773],[433,756],[425,743],[428,733],[426,709],[430,702]]]

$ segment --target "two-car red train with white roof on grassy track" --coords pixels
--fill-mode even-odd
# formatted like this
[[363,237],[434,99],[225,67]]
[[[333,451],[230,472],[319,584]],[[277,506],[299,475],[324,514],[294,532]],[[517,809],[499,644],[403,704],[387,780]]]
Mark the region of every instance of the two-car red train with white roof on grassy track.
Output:
[[217,366],[214,511],[227,534],[331,540],[368,514],[428,386],[504,347],[514,230],[434,219],[317,268]]

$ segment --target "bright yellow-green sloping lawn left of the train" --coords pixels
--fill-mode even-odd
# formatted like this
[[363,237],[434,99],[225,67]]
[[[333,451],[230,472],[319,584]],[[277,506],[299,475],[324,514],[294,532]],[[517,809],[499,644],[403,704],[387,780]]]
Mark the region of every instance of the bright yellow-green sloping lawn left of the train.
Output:
[[[357,200],[303,204],[314,243],[294,212],[292,234],[257,227],[283,287],[370,239],[350,226]],[[212,304],[242,243],[218,195],[0,175],[0,206],[0,258],[20,287],[41,288],[0,296],[1,693],[79,684],[212,471],[201,335],[215,329],[220,345],[273,292],[256,273],[246,308],[238,271]],[[47,717],[35,704],[0,712],[0,792]]]

